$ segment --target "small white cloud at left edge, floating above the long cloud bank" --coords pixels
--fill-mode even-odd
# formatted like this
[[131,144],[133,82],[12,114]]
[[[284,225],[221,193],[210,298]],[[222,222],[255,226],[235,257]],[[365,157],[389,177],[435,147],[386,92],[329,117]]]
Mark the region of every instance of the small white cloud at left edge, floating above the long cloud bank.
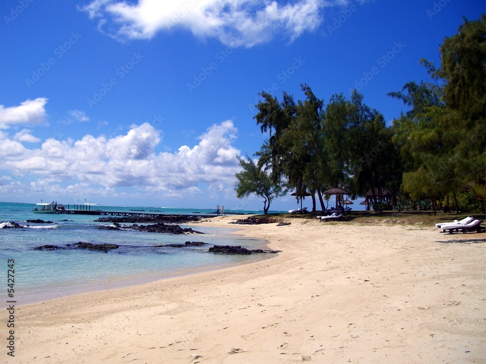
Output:
[[46,98],[28,99],[19,106],[4,107],[0,105],[0,129],[10,125],[39,125],[46,120]]

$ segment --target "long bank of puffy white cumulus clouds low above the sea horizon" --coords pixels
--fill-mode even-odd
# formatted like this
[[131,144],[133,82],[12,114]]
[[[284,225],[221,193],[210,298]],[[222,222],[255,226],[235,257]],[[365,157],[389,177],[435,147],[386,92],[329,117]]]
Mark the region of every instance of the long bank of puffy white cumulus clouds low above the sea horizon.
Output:
[[[19,137],[30,133],[22,132],[17,133]],[[156,152],[160,132],[149,123],[132,125],[126,134],[112,138],[89,134],[76,141],[49,138],[40,149],[27,149],[0,133],[4,156],[0,169],[39,175],[42,181],[73,180],[72,185],[80,183],[86,188],[129,186],[184,196],[199,193],[200,183],[234,182],[240,153],[232,146],[236,133],[232,121],[214,124],[199,136],[197,145],[181,146],[174,153]]]

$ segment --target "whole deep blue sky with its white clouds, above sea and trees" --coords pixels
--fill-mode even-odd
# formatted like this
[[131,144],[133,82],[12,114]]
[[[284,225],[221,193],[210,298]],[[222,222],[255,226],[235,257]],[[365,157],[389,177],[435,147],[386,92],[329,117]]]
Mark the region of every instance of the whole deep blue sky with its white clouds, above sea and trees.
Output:
[[[266,135],[262,90],[302,99],[427,79],[473,0],[0,2],[0,200],[261,209],[236,199],[236,155]],[[306,200],[304,205],[309,205]],[[271,210],[297,206],[295,198]]]

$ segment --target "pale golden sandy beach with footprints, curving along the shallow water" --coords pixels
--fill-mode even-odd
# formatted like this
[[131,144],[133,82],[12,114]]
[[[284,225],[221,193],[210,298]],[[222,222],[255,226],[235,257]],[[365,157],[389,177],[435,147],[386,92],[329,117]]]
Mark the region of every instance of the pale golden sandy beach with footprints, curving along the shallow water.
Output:
[[[207,226],[229,226],[222,216]],[[6,363],[485,363],[485,235],[240,226],[277,256],[20,306]],[[197,225],[196,225],[197,226]],[[5,315],[2,327],[6,328]],[[6,334],[6,329],[2,332]],[[4,336],[4,339],[6,336]]]

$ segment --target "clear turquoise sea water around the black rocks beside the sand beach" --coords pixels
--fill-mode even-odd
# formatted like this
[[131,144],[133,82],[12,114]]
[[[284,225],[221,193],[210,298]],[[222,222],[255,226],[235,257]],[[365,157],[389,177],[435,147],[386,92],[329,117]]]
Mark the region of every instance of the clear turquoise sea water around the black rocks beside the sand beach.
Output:
[[[0,266],[4,279],[4,294],[0,289],[0,305],[7,297],[7,261],[15,260],[15,297],[17,304],[69,296],[107,288],[156,281],[174,275],[242,264],[267,258],[261,255],[231,256],[208,252],[211,245],[188,248],[155,248],[156,244],[181,244],[204,241],[216,245],[241,245],[264,248],[265,242],[246,239],[222,229],[191,225],[204,234],[163,234],[138,231],[106,231],[94,222],[97,215],[34,214],[34,204],[0,202],[0,221],[15,221],[23,229],[0,229]],[[72,208],[72,206],[71,206]],[[154,207],[95,206],[105,211],[144,210],[164,214],[208,214],[207,209],[168,209]],[[142,212],[142,211],[140,211]],[[255,213],[258,213],[257,211]],[[52,221],[49,224],[27,223],[28,219]],[[69,221],[63,221],[69,220]],[[4,224],[0,224],[0,227]],[[30,226],[27,226],[30,225]],[[181,227],[187,227],[181,225]],[[86,249],[34,250],[41,245],[66,246],[77,242],[114,243],[120,248],[108,251]]]

